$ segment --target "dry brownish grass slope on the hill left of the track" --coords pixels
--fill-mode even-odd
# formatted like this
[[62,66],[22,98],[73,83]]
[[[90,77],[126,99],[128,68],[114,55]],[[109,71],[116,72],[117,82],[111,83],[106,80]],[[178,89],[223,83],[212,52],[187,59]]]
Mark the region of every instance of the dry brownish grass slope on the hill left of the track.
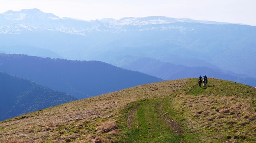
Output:
[[140,85],[8,119],[0,123],[0,142],[14,139],[21,142],[108,142],[111,141],[108,136],[118,135],[118,132],[114,129],[97,133],[102,130],[101,123],[112,123],[132,102],[177,94],[188,81]]

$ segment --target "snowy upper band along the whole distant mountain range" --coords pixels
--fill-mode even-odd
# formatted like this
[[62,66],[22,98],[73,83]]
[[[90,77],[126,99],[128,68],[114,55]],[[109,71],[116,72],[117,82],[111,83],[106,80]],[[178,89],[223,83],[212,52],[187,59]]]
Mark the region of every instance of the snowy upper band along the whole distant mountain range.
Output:
[[0,14],[0,33],[19,34],[24,31],[33,32],[37,30],[59,31],[70,34],[86,35],[89,32],[121,32],[128,29],[124,26],[145,26],[137,30],[167,30],[179,29],[191,31],[193,28],[173,27],[172,23],[204,23],[204,24],[228,24],[224,22],[200,21],[192,19],[178,19],[168,17],[127,17],[115,20],[113,18],[104,18],[102,20],[77,20],[73,18],[60,18],[52,13],[44,13],[39,9],[22,9],[20,11],[6,11]]

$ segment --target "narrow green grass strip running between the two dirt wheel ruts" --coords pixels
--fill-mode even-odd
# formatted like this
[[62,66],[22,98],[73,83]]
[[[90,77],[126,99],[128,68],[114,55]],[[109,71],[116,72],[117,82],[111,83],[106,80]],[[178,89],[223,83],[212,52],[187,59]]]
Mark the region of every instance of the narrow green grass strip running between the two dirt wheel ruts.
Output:
[[157,103],[160,100],[145,101],[137,110],[135,122],[128,134],[127,143],[179,143],[181,136],[172,132],[160,118]]

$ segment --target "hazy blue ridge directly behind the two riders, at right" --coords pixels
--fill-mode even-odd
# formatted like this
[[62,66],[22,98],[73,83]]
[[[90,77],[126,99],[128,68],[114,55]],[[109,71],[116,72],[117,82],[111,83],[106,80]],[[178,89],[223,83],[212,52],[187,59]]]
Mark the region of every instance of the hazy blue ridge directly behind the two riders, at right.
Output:
[[227,73],[220,69],[215,69],[215,67],[210,68],[210,65],[209,67],[201,67],[200,63],[198,63],[197,67],[187,67],[169,62],[161,62],[152,58],[139,58],[131,63],[127,63],[122,66],[122,68],[143,72],[164,80],[175,80],[189,77],[197,78],[200,75],[207,75],[208,77],[234,81],[256,87],[256,78],[231,72]]

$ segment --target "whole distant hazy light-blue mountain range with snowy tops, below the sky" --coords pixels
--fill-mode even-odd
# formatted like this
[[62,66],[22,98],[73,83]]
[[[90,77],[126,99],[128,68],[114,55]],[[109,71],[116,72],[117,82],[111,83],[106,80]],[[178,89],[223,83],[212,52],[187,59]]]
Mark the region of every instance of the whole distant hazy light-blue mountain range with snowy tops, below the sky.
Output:
[[256,78],[256,26],[167,17],[84,21],[38,9],[7,11],[0,21],[0,46],[37,47],[70,60],[119,67],[154,58]]

